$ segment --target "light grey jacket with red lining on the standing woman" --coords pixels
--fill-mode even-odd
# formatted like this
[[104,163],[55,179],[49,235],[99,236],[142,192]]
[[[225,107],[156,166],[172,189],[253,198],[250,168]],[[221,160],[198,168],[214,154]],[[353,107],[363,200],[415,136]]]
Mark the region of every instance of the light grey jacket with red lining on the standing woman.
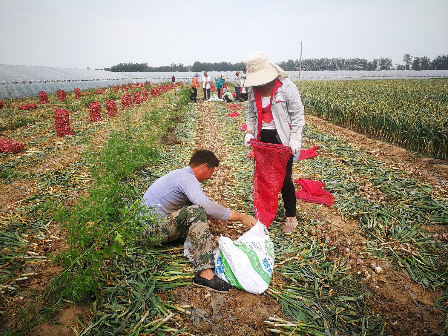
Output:
[[[283,83],[272,98],[272,117],[276,124],[279,141],[284,146],[289,146],[290,139],[302,142],[302,129],[305,125],[303,105],[297,86],[289,79],[280,77]],[[254,88],[247,92],[248,111],[246,125],[258,137],[257,106],[255,105]],[[291,127],[289,127],[291,126]]]

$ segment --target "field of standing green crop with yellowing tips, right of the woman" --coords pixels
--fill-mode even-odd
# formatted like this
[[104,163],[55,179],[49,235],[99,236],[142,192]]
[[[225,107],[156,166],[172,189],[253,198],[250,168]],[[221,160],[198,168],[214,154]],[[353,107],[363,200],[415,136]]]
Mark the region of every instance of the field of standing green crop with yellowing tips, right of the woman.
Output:
[[426,155],[448,159],[448,80],[297,82],[319,118]]

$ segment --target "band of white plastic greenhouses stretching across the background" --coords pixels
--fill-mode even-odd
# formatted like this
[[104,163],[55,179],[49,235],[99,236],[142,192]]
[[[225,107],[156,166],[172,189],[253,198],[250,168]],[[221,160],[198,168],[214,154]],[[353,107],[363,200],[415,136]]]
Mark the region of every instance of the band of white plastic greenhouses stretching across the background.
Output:
[[[221,74],[233,81],[233,71],[209,71],[215,80]],[[298,80],[298,71],[286,71],[289,78]],[[201,80],[204,72],[199,72]],[[161,83],[171,81],[191,82],[194,71],[189,72],[110,72],[105,70],[86,70],[71,68],[52,68],[45,66],[0,65],[0,99],[21,98],[39,95],[39,91],[54,93],[58,89],[73,91],[107,87],[129,82]],[[330,81],[349,79],[387,79],[387,78],[440,78],[448,77],[448,70],[382,70],[382,71],[302,71],[301,80]]]

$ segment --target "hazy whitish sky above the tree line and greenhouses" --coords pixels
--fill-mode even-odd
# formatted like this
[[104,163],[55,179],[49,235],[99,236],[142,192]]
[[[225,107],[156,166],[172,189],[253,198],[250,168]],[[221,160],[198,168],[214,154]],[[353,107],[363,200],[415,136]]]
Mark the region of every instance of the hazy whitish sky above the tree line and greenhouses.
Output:
[[91,69],[448,53],[448,0],[0,0],[0,63]]

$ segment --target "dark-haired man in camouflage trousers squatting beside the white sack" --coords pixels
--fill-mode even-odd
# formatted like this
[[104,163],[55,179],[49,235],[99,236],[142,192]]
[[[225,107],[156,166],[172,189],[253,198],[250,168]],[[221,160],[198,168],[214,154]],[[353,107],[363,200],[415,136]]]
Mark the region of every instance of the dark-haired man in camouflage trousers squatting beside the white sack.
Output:
[[[164,217],[155,231],[156,237],[162,237],[160,243],[180,238],[185,240],[187,233],[190,234],[196,263],[193,284],[227,293],[230,285],[215,275],[207,218],[220,228],[227,220],[237,220],[251,228],[257,220],[212,202],[202,192],[201,183],[211,177],[219,163],[212,151],[195,151],[188,167],[176,169],[154,181],[143,196],[143,201]],[[185,206],[187,201],[193,205]]]

